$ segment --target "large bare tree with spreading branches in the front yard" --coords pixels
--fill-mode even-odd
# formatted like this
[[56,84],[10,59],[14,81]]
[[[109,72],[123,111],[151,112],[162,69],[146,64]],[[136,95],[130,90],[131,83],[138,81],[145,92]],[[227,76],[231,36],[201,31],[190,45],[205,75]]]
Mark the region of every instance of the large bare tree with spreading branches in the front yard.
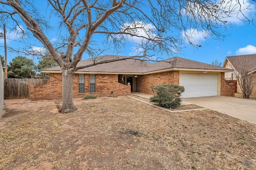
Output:
[[[200,47],[192,41],[190,28],[204,31],[206,37],[223,39],[221,31],[228,26],[226,18],[239,16],[244,10],[238,0],[47,2],[46,5],[41,1],[32,0],[0,0],[1,22],[8,22],[8,25],[12,23],[15,31],[23,33],[24,37],[32,33],[60,65],[62,113],[76,110],[72,99],[73,74],[76,70],[125,59],[94,60],[91,64],[77,66],[84,53],[93,57],[100,51],[102,44],[118,50],[126,41],[132,40],[137,45],[138,54],[129,58],[153,60],[152,56],[158,52],[170,55],[178,51],[184,42],[184,39],[180,38],[181,34],[184,34],[190,44]],[[41,5],[37,5],[38,3]],[[240,19],[249,21],[245,16]],[[24,30],[21,25],[25,25],[29,31]],[[48,31],[51,29],[58,33],[58,43],[50,41]],[[97,39],[103,39],[104,42],[99,43]]]

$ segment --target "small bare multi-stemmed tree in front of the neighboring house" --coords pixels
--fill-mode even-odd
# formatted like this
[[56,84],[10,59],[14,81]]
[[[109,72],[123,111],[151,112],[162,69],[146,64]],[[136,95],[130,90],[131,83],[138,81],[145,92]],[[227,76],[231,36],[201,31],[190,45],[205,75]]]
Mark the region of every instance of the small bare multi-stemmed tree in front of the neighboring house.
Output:
[[234,70],[236,80],[242,90],[243,98],[250,98],[252,89],[256,86],[256,74],[252,72],[252,68],[255,68],[254,64],[247,57],[236,57],[236,59],[232,60],[230,67]]

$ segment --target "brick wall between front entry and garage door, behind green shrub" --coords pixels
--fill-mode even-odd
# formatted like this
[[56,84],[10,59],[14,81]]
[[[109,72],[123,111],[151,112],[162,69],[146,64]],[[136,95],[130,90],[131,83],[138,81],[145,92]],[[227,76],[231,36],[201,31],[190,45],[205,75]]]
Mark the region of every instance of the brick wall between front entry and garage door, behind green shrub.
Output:
[[180,84],[179,71],[140,75],[136,78],[136,92],[153,94],[150,86],[160,84]]

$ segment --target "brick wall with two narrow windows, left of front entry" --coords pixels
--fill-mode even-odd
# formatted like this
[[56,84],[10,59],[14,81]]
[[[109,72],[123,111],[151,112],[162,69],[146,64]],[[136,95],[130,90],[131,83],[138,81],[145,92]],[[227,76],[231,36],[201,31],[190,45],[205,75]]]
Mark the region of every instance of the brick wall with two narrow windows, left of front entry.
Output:
[[[73,78],[73,98],[83,98],[86,95],[107,97],[113,94],[125,96],[131,94],[131,87],[118,83],[118,74],[96,74],[96,92],[90,93],[89,74],[84,75],[84,93],[78,93],[78,74]],[[62,75],[60,73],[50,74],[50,83],[42,86],[29,87],[30,100],[56,100],[62,99]]]

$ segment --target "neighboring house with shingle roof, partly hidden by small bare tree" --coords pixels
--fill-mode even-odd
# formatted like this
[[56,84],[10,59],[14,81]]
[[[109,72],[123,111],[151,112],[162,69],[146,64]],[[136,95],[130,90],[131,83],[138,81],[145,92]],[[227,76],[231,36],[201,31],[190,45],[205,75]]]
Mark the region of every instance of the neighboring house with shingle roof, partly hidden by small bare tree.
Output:
[[[254,77],[254,82],[256,82],[256,54],[226,57],[223,67],[230,68],[234,70],[234,72],[237,72],[238,68],[244,67],[249,74],[252,74]],[[236,80],[236,75],[234,72],[225,72],[225,80]],[[238,82],[237,92],[242,93]],[[256,87],[253,88],[252,94],[256,95]]]

